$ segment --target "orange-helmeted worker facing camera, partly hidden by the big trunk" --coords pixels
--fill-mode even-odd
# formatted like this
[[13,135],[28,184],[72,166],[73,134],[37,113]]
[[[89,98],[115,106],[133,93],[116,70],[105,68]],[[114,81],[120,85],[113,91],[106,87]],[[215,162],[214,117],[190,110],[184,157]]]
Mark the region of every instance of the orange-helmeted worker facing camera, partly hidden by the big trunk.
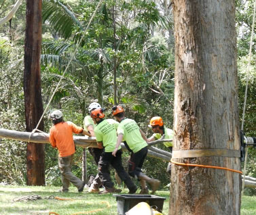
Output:
[[[153,131],[153,135],[147,139],[147,142],[151,142],[151,141],[155,141],[157,139],[160,139],[162,137],[162,135],[164,135],[164,139],[173,139],[173,130],[170,128],[166,128],[164,126],[164,121],[162,120],[162,118],[160,116],[154,116],[153,118],[151,118],[150,122],[149,122],[149,128],[152,129]],[[170,152],[172,153],[172,146],[173,143],[172,141],[170,142],[164,142],[164,145],[170,150]],[[167,166],[167,170],[166,172],[168,172],[168,174],[170,175],[170,171],[171,170],[171,163],[168,163]]]

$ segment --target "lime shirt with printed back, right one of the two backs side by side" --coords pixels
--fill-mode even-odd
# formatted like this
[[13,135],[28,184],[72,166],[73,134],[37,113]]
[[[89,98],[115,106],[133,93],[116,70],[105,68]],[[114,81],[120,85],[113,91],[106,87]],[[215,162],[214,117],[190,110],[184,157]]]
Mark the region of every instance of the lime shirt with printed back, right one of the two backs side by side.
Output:
[[117,134],[123,134],[123,141],[136,153],[147,146],[147,142],[141,137],[139,126],[134,120],[124,119],[117,128]]

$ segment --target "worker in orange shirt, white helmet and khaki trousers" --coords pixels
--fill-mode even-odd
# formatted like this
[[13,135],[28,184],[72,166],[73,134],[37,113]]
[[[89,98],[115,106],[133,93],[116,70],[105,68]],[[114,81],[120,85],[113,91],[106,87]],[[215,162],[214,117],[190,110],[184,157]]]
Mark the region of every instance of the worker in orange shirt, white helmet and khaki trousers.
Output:
[[73,133],[80,133],[91,136],[83,128],[75,125],[73,122],[65,122],[60,110],[55,110],[50,114],[52,119],[52,128],[50,128],[50,143],[52,147],[58,149],[58,167],[60,168],[62,189],[61,192],[68,192],[69,185],[72,183],[77,187],[79,192],[84,190],[86,182],[81,181],[71,172],[73,155],[75,153],[75,143],[73,141]]

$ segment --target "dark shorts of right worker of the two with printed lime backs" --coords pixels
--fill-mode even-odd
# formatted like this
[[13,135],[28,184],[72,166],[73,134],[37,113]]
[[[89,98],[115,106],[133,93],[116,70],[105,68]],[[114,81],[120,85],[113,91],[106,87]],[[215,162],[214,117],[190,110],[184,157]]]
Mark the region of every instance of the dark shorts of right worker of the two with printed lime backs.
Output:
[[139,174],[142,172],[141,168],[143,166],[144,160],[147,156],[147,147],[144,147],[136,153],[131,153],[130,160],[128,161],[130,176],[139,178]]

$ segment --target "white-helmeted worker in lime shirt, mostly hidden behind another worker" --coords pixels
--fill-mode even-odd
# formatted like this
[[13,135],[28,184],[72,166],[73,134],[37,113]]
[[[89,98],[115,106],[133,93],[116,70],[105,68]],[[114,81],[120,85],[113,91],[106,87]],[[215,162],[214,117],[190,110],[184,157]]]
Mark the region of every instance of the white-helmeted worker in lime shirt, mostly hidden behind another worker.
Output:
[[[101,108],[99,103],[97,102],[90,103],[88,107],[89,115],[84,118],[84,129],[87,130],[92,135],[92,137],[95,137],[94,127],[96,126],[96,124],[94,124],[90,116],[90,113],[92,112],[92,110],[95,110],[97,108]],[[98,166],[98,161],[100,160],[100,156],[103,153],[103,149],[88,147],[88,151],[90,152],[90,154],[94,158],[94,161],[96,162],[96,165]],[[97,174],[94,178],[94,181],[92,182],[92,185],[90,185],[88,192],[98,193],[100,191],[99,187],[101,185],[102,185],[102,182],[100,181],[100,177]]]

